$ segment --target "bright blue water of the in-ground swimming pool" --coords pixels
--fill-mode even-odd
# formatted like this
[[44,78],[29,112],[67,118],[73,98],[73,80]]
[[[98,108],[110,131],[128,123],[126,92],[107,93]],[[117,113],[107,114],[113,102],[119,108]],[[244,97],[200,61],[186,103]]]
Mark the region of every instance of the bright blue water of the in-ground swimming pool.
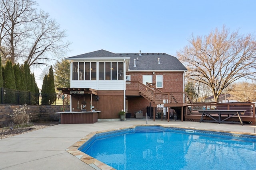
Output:
[[117,170],[256,169],[250,135],[136,127],[97,134],[79,150]]

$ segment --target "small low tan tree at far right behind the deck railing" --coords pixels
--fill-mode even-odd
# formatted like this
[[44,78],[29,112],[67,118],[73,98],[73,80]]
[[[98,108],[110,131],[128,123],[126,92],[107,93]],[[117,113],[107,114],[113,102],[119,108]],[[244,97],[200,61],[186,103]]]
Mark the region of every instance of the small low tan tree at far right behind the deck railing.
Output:
[[239,102],[256,102],[256,85],[248,82],[236,82],[232,84],[227,93],[232,100]]

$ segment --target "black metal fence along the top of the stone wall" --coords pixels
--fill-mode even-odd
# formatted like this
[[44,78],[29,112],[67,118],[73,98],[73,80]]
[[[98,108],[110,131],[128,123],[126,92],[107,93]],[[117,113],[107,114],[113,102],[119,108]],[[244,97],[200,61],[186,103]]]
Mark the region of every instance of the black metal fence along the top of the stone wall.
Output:
[[[44,94],[44,97],[54,96],[55,101],[52,105],[70,105],[70,95],[62,93]],[[39,93],[24,92],[20,90],[12,90],[1,88],[0,104],[28,104],[42,105],[42,95]]]

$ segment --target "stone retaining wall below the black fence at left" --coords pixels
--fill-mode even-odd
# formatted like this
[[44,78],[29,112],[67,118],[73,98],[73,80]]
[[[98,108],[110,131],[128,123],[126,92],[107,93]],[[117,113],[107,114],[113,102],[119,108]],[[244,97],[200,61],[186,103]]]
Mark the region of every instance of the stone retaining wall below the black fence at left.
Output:
[[[0,105],[0,127],[6,127],[12,122],[12,117],[8,114],[13,113],[15,108],[20,109],[24,105]],[[31,113],[31,122],[44,122],[44,121],[58,121],[60,114],[56,112],[62,111],[62,105],[27,105],[30,109],[28,113]],[[66,110],[69,110],[70,106],[65,106]]]

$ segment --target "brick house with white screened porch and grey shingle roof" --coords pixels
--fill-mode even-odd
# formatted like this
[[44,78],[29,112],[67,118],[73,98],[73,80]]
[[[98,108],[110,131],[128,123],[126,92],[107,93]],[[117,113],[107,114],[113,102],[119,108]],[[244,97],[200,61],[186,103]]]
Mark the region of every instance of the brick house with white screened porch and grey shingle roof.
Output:
[[99,50],[66,60],[71,64],[70,88],[58,90],[71,94],[70,111],[100,110],[98,119],[119,119],[122,109],[132,116],[142,110],[153,117],[157,106],[164,104],[183,120],[187,69],[176,57]]

